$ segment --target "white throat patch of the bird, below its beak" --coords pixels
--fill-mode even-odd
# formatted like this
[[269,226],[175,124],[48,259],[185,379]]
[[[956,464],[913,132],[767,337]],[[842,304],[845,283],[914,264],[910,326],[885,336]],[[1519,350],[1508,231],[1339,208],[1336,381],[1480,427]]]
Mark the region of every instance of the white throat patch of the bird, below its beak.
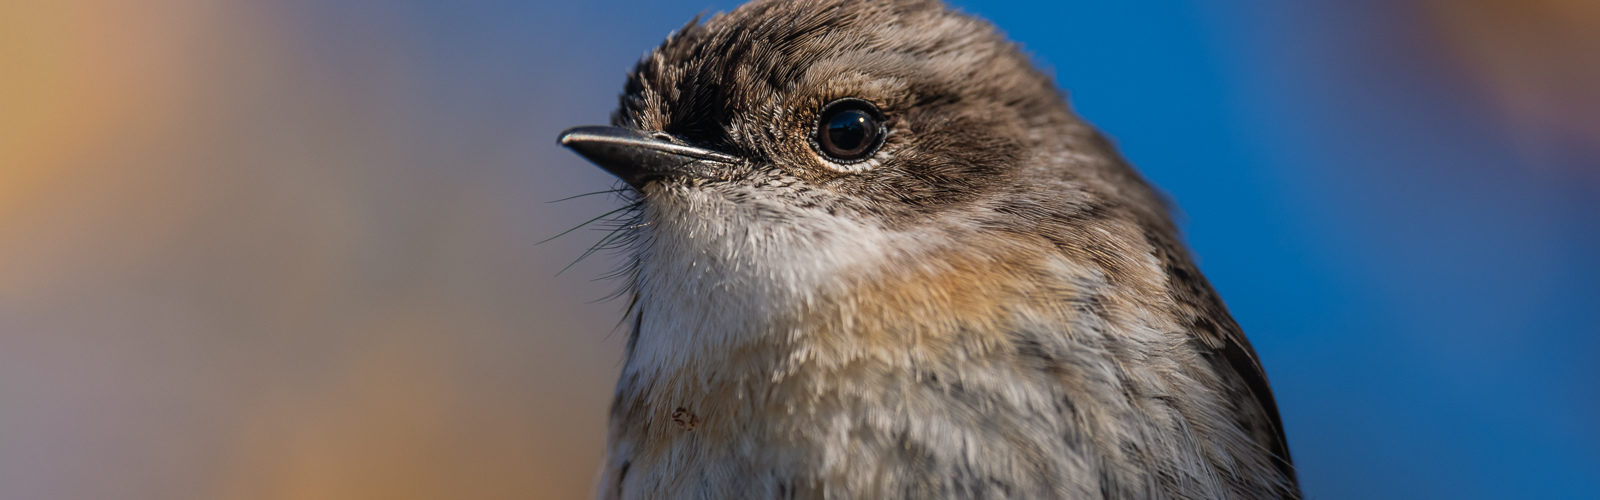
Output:
[[642,319],[624,378],[702,378],[742,345],[800,335],[774,319],[814,311],[829,292],[843,292],[846,276],[917,244],[822,208],[730,202],[698,189],[669,196],[645,207],[635,277]]

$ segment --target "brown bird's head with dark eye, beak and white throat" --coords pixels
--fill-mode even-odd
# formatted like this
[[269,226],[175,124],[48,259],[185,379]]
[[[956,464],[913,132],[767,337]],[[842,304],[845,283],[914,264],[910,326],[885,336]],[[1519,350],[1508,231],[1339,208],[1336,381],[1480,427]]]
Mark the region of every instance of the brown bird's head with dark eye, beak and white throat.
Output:
[[[1042,276],[1163,287],[1144,236],[1162,200],[1014,43],[941,2],[691,21],[634,67],[611,125],[560,141],[627,184],[642,325],[704,346],[674,353],[867,317],[848,301],[971,324],[989,319],[949,317],[952,298],[1061,288]],[[965,311],[1006,311],[979,298]]]

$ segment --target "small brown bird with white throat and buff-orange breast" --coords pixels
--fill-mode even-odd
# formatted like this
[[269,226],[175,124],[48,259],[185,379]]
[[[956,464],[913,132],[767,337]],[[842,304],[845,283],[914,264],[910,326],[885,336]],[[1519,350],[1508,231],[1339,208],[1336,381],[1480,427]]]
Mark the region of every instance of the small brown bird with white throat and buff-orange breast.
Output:
[[984,21],[752,2],[560,143],[630,202],[602,498],[1299,497],[1166,202]]

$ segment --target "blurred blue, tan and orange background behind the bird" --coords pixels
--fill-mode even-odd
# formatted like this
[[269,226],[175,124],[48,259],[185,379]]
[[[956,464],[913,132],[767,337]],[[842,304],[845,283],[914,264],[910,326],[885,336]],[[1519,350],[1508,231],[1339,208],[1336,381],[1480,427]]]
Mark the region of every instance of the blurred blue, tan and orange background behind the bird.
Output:
[[[1600,3],[957,3],[1182,207],[1309,497],[1600,497]],[[0,498],[587,495],[555,135],[733,6],[0,3]]]

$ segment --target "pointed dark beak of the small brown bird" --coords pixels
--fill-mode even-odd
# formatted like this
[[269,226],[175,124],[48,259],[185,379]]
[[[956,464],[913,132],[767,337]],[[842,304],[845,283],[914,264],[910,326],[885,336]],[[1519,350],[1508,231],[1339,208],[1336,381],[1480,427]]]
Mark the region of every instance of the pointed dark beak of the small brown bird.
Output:
[[634,189],[643,189],[664,176],[714,178],[709,167],[736,160],[710,149],[674,143],[664,133],[621,127],[573,127],[562,131],[560,143]]

